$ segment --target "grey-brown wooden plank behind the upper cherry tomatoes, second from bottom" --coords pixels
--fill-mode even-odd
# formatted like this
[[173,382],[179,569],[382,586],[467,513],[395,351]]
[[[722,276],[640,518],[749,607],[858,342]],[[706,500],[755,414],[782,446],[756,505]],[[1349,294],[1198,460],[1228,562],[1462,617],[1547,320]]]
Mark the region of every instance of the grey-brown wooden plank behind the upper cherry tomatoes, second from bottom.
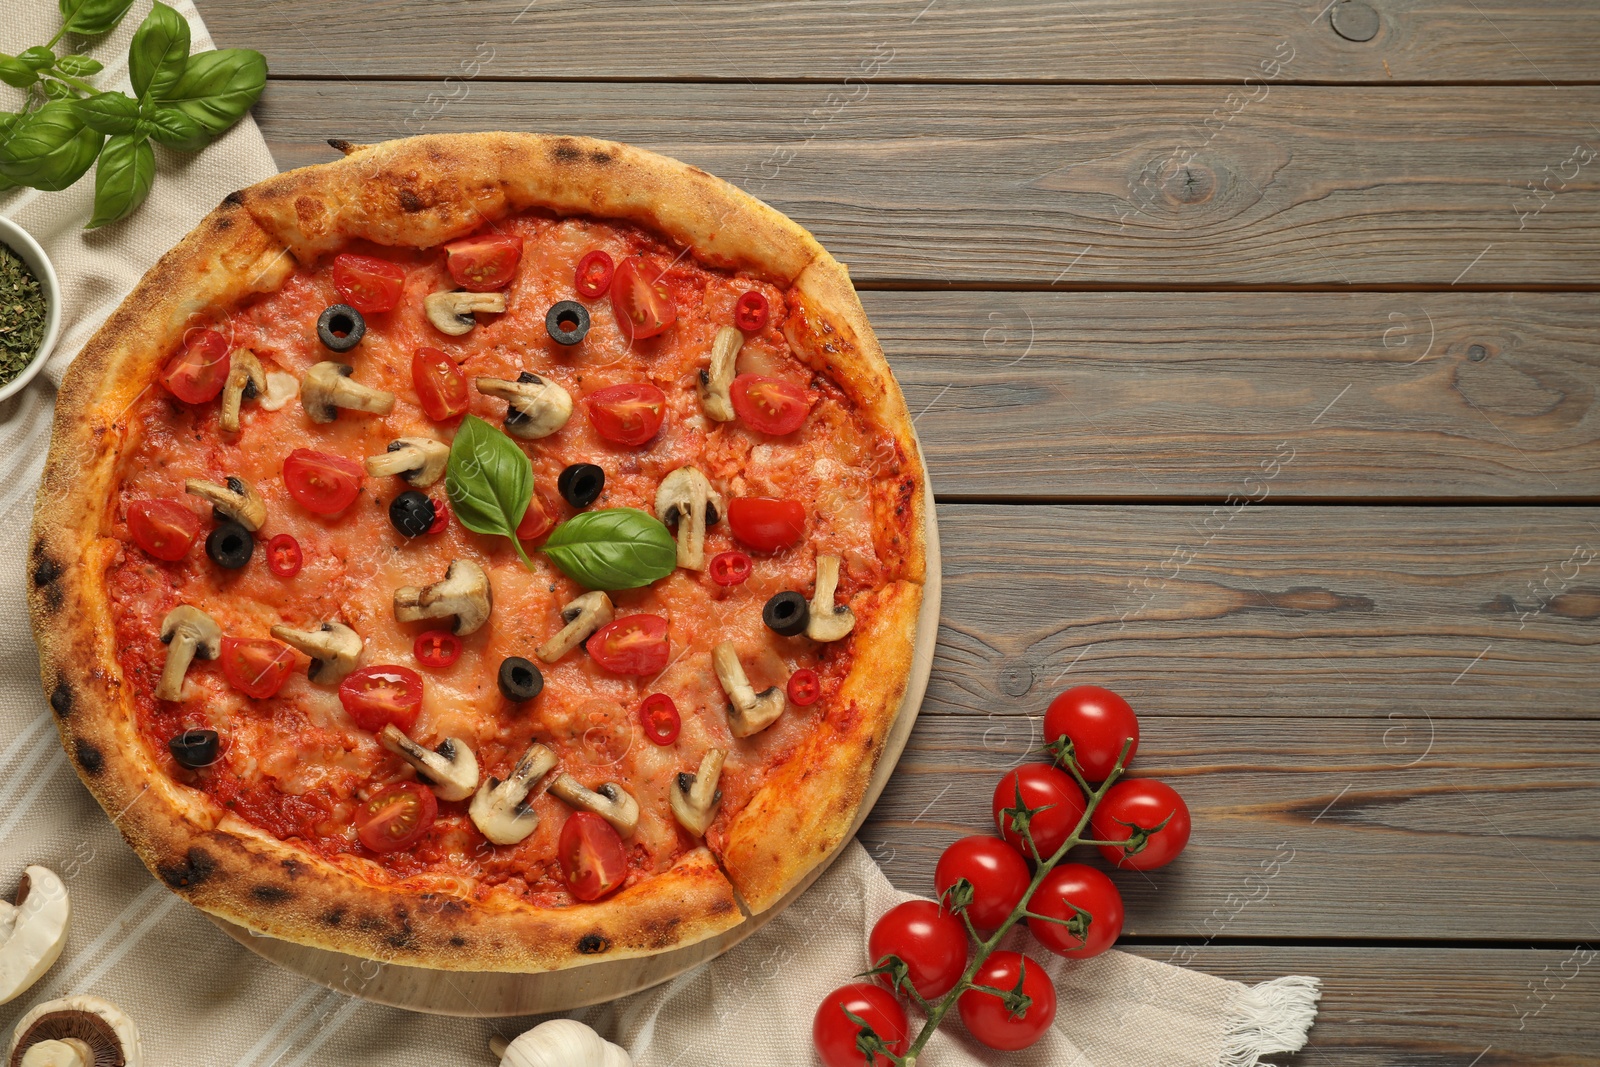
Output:
[[[1062,686],[1090,678],[1115,683],[1069,675]],[[1166,688],[1189,685],[1173,673]],[[1600,941],[1589,926],[1600,723],[1326,720],[1277,707],[1184,718],[1133,704],[1134,769],[1184,795],[1194,835],[1168,867],[1115,873],[1128,934]],[[979,729],[936,710],[925,705],[861,832],[885,873],[923,896],[950,841],[994,833],[995,784],[1042,742],[1037,718],[1002,713]],[[1104,865],[1091,849],[1078,857]]]

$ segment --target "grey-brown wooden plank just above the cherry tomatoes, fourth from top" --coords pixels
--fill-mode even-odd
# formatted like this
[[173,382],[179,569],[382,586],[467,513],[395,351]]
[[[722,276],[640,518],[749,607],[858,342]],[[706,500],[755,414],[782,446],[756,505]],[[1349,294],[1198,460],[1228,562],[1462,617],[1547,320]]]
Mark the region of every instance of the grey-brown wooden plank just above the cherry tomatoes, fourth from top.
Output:
[[1163,717],[1600,712],[1597,509],[944,504],[939,534],[931,710],[1082,678]]

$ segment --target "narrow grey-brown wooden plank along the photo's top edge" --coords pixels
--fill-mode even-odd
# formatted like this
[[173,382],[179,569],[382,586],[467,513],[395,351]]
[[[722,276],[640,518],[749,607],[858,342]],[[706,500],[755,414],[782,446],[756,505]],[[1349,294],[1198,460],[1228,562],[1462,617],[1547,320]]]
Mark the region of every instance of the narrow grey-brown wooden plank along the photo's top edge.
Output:
[[[456,8],[462,16],[442,16],[432,0],[213,0],[205,18],[221,43],[259,48],[274,74],[296,77],[445,77],[477,61],[496,78],[842,80],[878,58],[878,77],[894,80],[1237,83],[1261,77],[1280,48],[1291,56],[1282,77],[1294,80],[1595,77],[1600,21],[1584,0],[1371,8],[1378,32],[1366,42],[1301,0],[482,0]],[[1352,21],[1341,18],[1347,34]]]

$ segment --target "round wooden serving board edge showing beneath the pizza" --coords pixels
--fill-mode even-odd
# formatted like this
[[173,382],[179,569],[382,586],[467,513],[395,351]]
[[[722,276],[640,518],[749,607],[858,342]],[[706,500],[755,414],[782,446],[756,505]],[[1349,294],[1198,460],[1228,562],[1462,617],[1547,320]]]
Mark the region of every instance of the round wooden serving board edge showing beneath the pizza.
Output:
[[923,490],[928,501],[928,579],[923,589],[922,613],[917,617],[917,641],[912,654],[910,681],[906,686],[906,699],[901,701],[894,725],[890,728],[890,736],[883,744],[883,755],[872,774],[872,781],[867,784],[867,793],[856,811],[856,821],[850,827],[850,835],[800,885],[760,915],[754,915],[715,937],[707,937],[706,941],[674,949],[672,952],[635,960],[605,960],[539,974],[435,971],[430,968],[378,963],[342,952],[312,949],[291,941],[258,934],[214,915],[208,918],[221,926],[234,941],[264,960],[270,960],[301,977],[309,977],[341,993],[350,993],[362,1000],[394,1008],[480,1019],[571,1011],[573,1008],[616,1000],[618,997],[659,985],[733,949],[794,904],[838,857],[845,845],[854,838],[856,830],[861,829],[861,824],[872,811],[872,805],[877,803],[878,795],[894,773],[894,765],[899,763],[901,750],[910,736],[910,728],[917,721],[923,693],[928,689],[928,675],[933,672],[933,648],[939,635],[939,528],[934,518],[933,486],[928,483],[926,469],[923,469]]

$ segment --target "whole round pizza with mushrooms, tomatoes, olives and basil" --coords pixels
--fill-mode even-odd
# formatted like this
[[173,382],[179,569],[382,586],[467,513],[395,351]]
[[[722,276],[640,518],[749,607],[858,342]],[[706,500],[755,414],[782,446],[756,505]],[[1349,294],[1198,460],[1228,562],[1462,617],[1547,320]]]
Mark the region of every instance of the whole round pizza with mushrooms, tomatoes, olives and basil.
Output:
[[846,270],[640,149],[232,194],[56,402],[30,609],[78,776],[200,909],[547,971],[771,909],[907,688],[925,475]]

